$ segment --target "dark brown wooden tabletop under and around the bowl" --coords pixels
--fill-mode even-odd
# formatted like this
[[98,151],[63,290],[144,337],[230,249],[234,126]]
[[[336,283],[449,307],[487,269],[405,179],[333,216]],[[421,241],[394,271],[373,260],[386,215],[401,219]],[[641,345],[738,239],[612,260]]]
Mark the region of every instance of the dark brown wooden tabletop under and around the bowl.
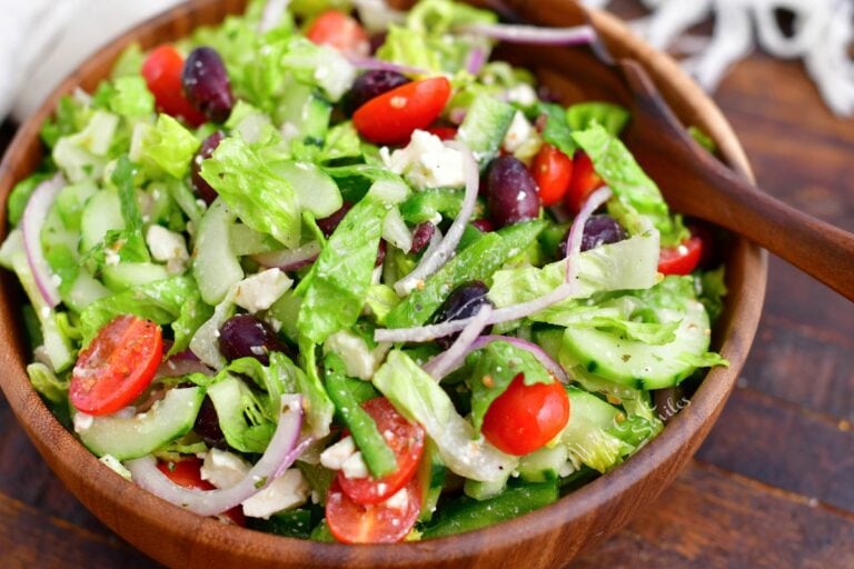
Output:
[[[854,120],[754,54],[716,100],[759,184],[854,231]],[[0,130],[0,149],[13,133]],[[854,305],[776,258],[738,389],[657,503],[573,567],[854,568]],[[0,395],[0,567],[158,567],[48,470]]]

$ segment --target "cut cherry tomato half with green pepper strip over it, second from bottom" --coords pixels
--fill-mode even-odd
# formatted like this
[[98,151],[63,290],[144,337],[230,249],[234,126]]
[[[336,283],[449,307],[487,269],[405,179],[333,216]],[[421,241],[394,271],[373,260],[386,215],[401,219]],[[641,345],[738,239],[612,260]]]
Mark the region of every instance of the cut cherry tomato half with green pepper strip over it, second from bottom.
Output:
[[371,505],[394,495],[415,476],[424,453],[424,429],[397,412],[385,397],[369,399],[361,407],[377,423],[377,430],[395,453],[397,470],[383,478],[347,478],[339,471],[338,483],[354,502]]

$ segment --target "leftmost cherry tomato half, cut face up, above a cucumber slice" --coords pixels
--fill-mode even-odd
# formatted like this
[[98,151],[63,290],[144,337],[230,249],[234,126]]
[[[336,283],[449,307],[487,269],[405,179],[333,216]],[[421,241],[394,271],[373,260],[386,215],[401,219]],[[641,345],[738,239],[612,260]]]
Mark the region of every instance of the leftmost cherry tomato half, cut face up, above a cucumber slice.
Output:
[[89,415],[115,413],[146,390],[162,358],[159,326],[135,316],[115,318],[77,357],[71,405]]

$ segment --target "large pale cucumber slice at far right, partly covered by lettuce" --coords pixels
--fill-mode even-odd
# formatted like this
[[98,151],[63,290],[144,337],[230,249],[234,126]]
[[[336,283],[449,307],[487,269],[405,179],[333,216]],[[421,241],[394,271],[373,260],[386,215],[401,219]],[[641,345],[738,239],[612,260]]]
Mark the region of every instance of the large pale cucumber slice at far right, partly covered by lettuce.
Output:
[[590,373],[634,389],[674,387],[696,369],[686,362],[686,356],[702,356],[711,341],[708,316],[703,305],[686,301],[681,317],[676,339],[662,346],[626,340],[595,329],[567,328],[560,365],[566,369],[578,365]]

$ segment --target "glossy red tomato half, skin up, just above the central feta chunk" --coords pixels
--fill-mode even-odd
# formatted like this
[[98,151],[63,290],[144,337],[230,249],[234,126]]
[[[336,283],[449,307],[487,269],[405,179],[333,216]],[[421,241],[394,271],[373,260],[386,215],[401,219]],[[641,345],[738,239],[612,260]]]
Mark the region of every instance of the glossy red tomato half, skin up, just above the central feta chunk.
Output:
[[404,144],[413,131],[426,129],[450,99],[444,77],[413,81],[375,97],[352,114],[356,130],[377,144]]

